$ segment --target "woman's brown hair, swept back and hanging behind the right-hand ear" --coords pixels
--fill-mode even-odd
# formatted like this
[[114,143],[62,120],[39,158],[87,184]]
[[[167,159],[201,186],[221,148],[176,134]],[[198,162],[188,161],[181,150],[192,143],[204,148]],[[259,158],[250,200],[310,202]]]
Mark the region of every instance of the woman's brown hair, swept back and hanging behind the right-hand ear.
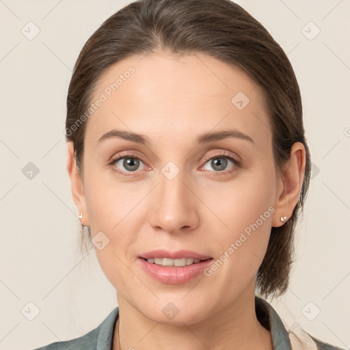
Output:
[[[243,68],[262,87],[278,172],[290,158],[293,144],[304,144],[306,170],[299,200],[291,218],[283,226],[271,228],[256,280],[260,295],[282,295],[288,287],[294,258],[297,217],[308,192],[310,152],[304,136],[299,85],[291,63],[265,27],[236,3],[229,0],[135,1],[109,17],[94,32],[77,59],[67,97],[66,139],[74,143],[81,175],[86,122],[79,127],[77,122],[89,108],[96,81],[116,62],[157,49],[173,54],[211,55]],[[91,239],[90,228],[88,232]]]

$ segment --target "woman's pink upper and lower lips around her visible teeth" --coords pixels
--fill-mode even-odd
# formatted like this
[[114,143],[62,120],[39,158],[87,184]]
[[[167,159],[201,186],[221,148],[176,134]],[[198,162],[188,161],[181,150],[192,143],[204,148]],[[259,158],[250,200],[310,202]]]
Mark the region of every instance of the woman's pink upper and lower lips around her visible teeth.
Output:
[[[196,264],[187,265],[184,267],[162,266],[148,262],[148,258],[195,258],[203,260]],[[186,283],[199,275],[208,265],[211,264],[213,258],[203,256],[189,250],[178,250],[177,252],[169,252],[167,250],[155,250],[147,252],[137,258],[142,266],[142,269],[148,273],[154,280],[167,284]]]

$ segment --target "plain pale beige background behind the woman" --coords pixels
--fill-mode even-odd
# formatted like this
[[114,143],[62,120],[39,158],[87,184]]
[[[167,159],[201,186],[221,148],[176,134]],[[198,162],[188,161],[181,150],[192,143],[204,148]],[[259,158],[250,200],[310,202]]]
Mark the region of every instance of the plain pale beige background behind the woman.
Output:
[[[0,1],[0,349],[81,336],[116,307],[116,293],[94,252],[79,252],[63,131],[79,51],[126,3]],[[349,349],[350,1],[239,3],[291,59],[313,162],[291,286],[273,306],[313,336]],[[32,40],[29,21],[35,24],[31,35],[40,30]],[[309,40],[315,25],[321,32]],[[39,170],[31,180],[22,172],[29,162]],[[33,321],[21,312],[29,302],[40,310]]]

